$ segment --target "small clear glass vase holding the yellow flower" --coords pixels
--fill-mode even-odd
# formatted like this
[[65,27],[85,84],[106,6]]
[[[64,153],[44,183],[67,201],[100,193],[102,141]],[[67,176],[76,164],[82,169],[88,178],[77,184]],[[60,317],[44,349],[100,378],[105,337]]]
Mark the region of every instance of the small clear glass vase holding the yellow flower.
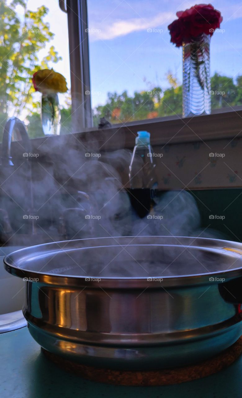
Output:
[[41,122],[45,135],[60,135],[60,104],[58,94],[42,94]]

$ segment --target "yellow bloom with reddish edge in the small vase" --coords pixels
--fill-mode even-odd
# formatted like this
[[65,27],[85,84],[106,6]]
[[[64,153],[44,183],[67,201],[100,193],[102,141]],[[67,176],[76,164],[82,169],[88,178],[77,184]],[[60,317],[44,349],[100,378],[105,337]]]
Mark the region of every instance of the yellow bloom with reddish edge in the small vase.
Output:
[[66,79],[53,69],[38,70],[33,74],[33,85],[41,93],[66,93]]

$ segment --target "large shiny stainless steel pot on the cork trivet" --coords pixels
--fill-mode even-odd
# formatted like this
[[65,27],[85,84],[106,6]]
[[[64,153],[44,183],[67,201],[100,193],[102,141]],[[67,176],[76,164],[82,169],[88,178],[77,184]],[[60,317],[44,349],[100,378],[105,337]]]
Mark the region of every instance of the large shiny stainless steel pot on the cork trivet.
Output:
[[158,369],[240,337],[241,255],[236,242],[136,236],[33,246],[4,263],[27,279],[23,314],[46,350],[97,367]]

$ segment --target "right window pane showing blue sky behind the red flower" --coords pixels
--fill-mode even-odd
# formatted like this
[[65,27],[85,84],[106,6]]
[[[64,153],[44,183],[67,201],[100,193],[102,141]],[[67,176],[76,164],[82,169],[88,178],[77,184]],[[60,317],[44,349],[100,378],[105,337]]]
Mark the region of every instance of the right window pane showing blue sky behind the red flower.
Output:
[[[94,123],[182,113],[182,49],[167,26],[196,4],[176,0],[87,0]],[[212,109],[242,103],[242,7],[214,0],[221,29],[211,38]]]

